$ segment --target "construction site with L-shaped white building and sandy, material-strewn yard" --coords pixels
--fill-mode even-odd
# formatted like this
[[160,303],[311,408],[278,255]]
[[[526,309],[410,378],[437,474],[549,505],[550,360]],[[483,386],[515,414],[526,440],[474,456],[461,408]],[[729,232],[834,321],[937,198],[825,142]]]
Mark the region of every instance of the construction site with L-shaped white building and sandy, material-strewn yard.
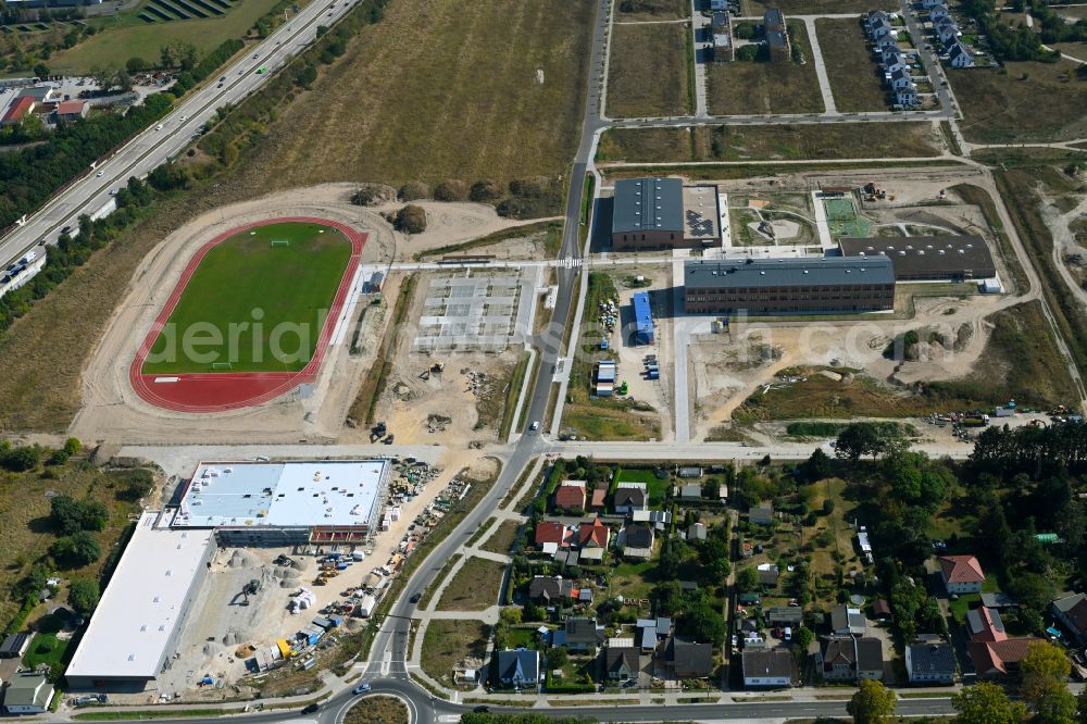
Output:
[[[230,485],[229,475],[247,464],[297,488],[290,467],[317,463],[201,464],[183,482],[180,499],[190,510],[205,509],[203,517],[180,520],[180,505],[145,513],[73,658],[73,688],[109,691],[111,699],[132,703],[222,700],[255,696],[268,681],[309,671],[365,625],[418,544],[473,485],[422,461],[322,461],[326,470],[379,466],[373,472],[385,489],[375,498],[376,529],[347,535],[345,526],[334,530],[317,516],[302,539],[297,527],[307,510],[300,499],[280,499],[275,485],[268,503],[247,498],[253,472]],[[224,474],[227,466],[234,472]],[[209,471],[221,474],[204,477]],[[200,485],[209,478],[213,485]],[[343,487],[321,478],[312,484]],[[238,488],[233,501],[226,499],[230,487]],[[207,502],[193,505],[200,496]],[[274,512],[276,499],[290,511]],[[255,505],[253,525],[214,512],[224,505]],[[261,512],[268,530],[253,533],[262,527]],[[296,540],[282,544],[271,530],[278,525],[293,530]],[[257,537],[242,545],[242,529]]]

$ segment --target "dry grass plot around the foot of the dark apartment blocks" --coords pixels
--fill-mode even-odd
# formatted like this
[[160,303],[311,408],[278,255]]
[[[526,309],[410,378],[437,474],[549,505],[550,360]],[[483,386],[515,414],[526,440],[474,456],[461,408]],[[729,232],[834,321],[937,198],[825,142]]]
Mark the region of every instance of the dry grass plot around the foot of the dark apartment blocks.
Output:
[[[803,24],[790,23],[789,33],[799,36],[797,40],[810,55],[812,46]],[[822,113],[825,110],[815,63],[810,58],[804,65],[791,61],[710,63],[705,68],[705,85],[707,103],[714,115]]]

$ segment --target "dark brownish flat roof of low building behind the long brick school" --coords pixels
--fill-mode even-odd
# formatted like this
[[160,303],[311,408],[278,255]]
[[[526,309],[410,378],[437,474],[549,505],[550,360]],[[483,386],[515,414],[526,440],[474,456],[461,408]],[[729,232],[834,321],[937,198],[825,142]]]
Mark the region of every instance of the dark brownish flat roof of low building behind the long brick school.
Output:
[[971,270],[987,276],[996,272],[989,245],[979,236],[903,236],[860,239],[844,237],[838,248],[846,257],[886,254],[895,273]]

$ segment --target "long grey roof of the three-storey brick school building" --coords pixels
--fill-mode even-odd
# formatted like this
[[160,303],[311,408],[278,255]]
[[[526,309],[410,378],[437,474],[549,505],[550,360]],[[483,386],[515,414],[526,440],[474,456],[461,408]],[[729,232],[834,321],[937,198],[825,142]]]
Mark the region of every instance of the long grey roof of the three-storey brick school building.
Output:
[[895,284],[895,267],[884,255],[699,260],[684,264],[684,276],[688,288],[701,289],[826,287]]

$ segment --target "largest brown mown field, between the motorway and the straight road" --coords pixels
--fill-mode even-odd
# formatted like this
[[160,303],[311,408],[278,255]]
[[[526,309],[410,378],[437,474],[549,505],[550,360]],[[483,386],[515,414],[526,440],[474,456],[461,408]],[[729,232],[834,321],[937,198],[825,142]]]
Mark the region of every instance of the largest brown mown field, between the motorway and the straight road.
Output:
[[577,142],[594,11],[393,0],[284,109],[241,183],[557,177]]

